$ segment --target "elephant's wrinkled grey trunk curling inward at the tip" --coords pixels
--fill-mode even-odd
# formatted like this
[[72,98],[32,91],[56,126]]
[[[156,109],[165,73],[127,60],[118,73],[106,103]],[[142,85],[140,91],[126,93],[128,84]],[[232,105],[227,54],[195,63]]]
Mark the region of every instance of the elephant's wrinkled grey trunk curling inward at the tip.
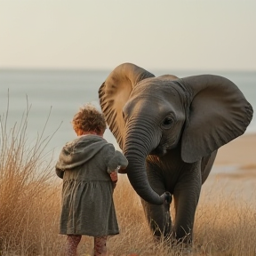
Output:
[[[142,130],[142,131],[141,131]],[[159,196],[150,186],[146,172],[146,157],[150,152],[150,136],[143,129],[128,133],[124,142],[124,156],[129,164],[126,168],[128,179],[137,194],[150,204],[163,204],[164,195]]]

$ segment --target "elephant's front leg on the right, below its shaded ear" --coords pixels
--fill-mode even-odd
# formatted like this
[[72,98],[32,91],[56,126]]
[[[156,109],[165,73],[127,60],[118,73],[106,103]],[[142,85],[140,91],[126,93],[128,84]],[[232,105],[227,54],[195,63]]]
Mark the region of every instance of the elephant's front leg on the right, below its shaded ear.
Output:
[[201,169],[198,166],[200,164],[194,170],[184,172],[173,191],[175,207],[173,231],[176,239],[185,244],[192,242],[196,206],[202,187]]

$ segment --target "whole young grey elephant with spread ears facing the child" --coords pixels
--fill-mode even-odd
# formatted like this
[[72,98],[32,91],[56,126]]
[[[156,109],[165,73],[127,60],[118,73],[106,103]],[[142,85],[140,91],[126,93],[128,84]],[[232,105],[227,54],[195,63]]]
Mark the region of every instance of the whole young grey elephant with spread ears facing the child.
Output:
[[[155,236],[191,242],[200,190],[217,150],[244,133],[252,106],[227,78],[155,77],[131,63],[110,73],[99,97]],[[173,224],[165,191],[174,199]]]

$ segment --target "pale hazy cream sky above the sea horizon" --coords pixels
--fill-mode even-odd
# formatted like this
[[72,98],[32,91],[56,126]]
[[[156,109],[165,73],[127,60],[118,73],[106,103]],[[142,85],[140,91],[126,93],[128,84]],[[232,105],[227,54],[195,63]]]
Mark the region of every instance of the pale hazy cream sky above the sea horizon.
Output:
[[256,71],[255,13],[255,0],[0,0],[0,68]]

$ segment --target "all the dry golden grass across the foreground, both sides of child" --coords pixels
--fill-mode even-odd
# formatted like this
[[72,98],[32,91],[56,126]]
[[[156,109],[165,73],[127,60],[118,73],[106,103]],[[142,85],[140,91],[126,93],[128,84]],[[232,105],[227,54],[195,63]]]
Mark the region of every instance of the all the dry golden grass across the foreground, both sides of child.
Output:
[[[51,137],[40,134],[29,142],[28,110],[11,130],[7,114],[0,122],[0,255],[63,255],[65,236],[58,235],[61,180],[54,176],[51,152],[45,153]],[[255,205],[232,194],[214,188],[203,193],[191,252],[154,241],[126,176],[120,175],[114,200],[120,234],[108,239],[110,255],[256,255]],[[84,236],[78,255],[90,255],[92,242]]]

